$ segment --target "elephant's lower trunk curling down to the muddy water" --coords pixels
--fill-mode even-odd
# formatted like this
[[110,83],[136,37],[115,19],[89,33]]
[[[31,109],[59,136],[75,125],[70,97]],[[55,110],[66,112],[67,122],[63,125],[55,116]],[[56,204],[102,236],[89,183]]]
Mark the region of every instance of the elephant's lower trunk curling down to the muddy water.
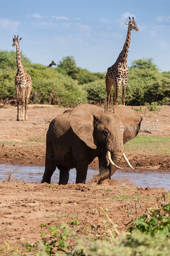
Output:
[[111,156],[111,161],[109,160],[110,164],[108,167],[100,172],[95,178],[94,181],[100,184],[103,180],[108,179],[110,176],[112,176],[117,168],[120,168],[118,165],[120,164],[123,156],[123,147],[122,149],[117,148],[114,150],[114,153],[110,153],[110,151],[107,151],[107,156],[110,158]]

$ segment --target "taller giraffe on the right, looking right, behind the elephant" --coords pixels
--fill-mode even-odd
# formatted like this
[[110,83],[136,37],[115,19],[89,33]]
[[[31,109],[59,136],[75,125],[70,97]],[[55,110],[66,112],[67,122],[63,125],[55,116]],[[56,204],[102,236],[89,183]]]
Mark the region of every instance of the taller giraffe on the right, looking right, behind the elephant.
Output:
[[137,25],[135,23],[134,17],[133,20],[129,17],[129,23],[125,23],[125,26],[128,26],[128,33],[126,37],[125,44],[123,46],[122,52],[119,54],[115,64],[107,69],[106,74],[106,90],[107,90],[107,111],[109,110],[109,101],[110,101],[110,92],[112,89],[112,85],[114,87],[114,95],[113,95],[113,105],[118,105],[119,101],[119,88],[122,83],[122,104],[125,105],[125,90],[126,84],[128,82],[128,66],[127,66],[127,58],[130,44],[130,36],[131,30],[135,29],[139,31]]

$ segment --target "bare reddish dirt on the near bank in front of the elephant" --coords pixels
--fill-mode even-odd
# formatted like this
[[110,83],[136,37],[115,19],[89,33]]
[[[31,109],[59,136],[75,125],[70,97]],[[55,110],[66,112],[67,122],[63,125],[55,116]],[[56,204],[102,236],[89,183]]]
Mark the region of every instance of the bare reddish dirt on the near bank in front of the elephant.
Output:
[[[139,217],[146,207],[156,207],[157,198],[161,197],[163,192],[170,196],[170,191],[163,188],[73,183],[59,186],[1,181],[0,248],[5,249],[4,243],[9,242],[8,250],[20,251],[21,244],[40,241],[40,231],[44,233],[48,227],[62,222],[70,225],[72,220],[79,221],[80,234],[94,237],[91,225],[102,222],[98,213],[99,207],[109,209],[108,215],[118,225],[118,230],[127,230],[126,224],[136,218],[136,198],[140,201],[137,208]],[[47,226],[40,230],[42,224]],[[83,226],[90,229],[88,234]],[[3,251],[0,251],[1,253],[5,254]]]

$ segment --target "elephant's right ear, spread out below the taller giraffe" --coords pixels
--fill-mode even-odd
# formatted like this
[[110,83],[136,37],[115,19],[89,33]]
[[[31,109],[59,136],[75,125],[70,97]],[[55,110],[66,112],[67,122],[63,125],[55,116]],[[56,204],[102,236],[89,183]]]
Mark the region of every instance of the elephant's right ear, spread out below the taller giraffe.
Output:
[[113,106],[113,111],[116,115],[120,116],[124,125],[123,144],[125,144],[137,136],[143,118],[131,107],[124,105]]

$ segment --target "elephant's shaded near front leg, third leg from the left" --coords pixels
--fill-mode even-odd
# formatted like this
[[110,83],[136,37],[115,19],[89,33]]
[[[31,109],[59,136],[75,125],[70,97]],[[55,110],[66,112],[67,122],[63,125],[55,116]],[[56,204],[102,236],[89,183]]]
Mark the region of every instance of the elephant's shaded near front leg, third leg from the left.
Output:
[[89,161],[76,162],[76,183],[85,183]]

